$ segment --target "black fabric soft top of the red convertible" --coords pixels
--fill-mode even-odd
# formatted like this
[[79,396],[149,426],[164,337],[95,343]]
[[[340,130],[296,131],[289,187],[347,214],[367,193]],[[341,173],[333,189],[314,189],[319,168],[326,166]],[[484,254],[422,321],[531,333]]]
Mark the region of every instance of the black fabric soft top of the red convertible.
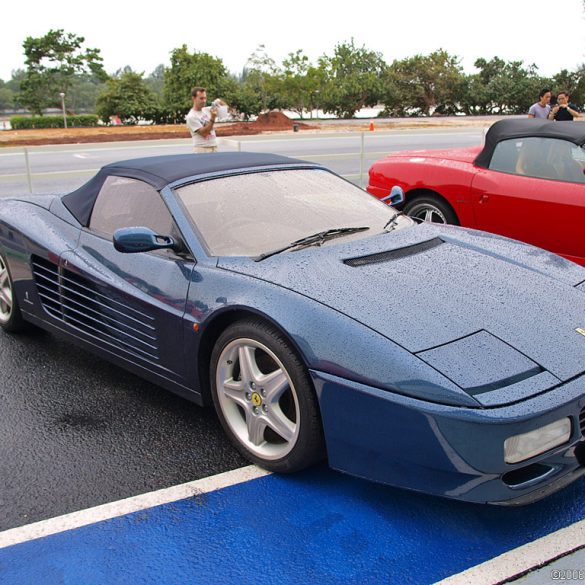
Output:
[[475,165],[488,168],[498,142],[509,138],[560,138],[578,146],[585,143],[585,124],[579,122],[553,122],[536,118],[500,120],[487,131],[483,150],[477,155]]

